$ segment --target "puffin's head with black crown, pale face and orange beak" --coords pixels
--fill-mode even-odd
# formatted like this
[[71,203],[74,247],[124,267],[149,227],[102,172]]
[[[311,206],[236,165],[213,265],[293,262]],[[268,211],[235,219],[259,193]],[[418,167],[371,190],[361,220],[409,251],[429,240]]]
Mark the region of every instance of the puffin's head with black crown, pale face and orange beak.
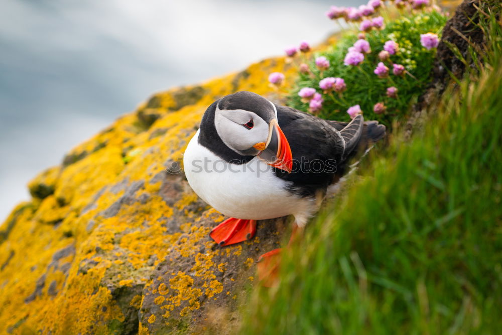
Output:
[[241,91],[222,97],[216,101],[214,128],[221,141],[237,154],[258,156],[291,172],[291,149],[277,122],[276,106],[263,96]]

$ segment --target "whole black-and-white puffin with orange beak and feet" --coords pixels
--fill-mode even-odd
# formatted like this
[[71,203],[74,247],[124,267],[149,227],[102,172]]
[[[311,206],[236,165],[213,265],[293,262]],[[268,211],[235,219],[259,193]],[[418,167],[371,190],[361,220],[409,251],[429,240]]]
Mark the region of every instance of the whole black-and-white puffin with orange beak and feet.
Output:
[[355,152],[385,133],[362,115],[329,121],[240,91],[206,109],[183,155],[184,171],[195,193],[229,217],[209,234],[220,246],[253,238],[257,220],[287,215],[294,216],[296,235]]

